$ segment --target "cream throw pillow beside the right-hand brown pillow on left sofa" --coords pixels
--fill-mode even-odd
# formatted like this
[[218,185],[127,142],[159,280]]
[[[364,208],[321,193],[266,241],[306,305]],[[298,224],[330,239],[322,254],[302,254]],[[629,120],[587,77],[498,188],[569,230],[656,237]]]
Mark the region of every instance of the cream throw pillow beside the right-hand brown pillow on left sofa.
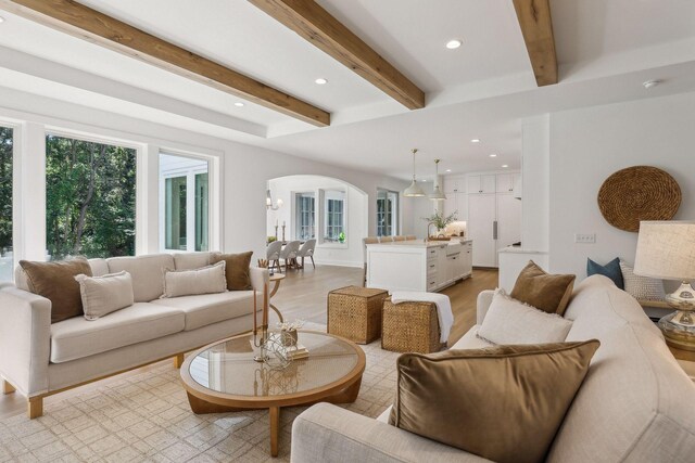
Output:
[[164,269],[164,294],[161,299],[227,292],[225,266],[223,260],[195,270]]

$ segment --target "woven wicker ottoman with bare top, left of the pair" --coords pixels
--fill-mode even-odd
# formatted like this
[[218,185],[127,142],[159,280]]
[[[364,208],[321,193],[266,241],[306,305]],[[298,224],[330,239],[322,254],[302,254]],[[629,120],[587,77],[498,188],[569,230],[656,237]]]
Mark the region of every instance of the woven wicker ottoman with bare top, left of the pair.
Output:
[[346,286],[328,293],[328,332],[357,344],[381,336],[381,306],[386,290]]

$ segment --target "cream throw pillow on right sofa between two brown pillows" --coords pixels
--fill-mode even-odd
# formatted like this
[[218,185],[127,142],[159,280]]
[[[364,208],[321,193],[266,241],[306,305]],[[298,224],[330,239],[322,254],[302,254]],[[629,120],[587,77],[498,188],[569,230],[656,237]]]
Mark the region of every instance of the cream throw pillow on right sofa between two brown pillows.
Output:
[[571,327],[572,322],[557,313],[544,312],[496,290],[478,336],[505,345],[561,343]]

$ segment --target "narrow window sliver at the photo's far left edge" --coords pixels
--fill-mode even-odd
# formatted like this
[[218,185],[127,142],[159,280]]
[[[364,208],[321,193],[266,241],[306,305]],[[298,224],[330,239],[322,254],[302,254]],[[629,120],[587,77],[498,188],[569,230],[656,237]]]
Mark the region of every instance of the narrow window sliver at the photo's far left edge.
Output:
[[12,153],[14,133],[0,127],[0,281],[13,279],[12,252]]

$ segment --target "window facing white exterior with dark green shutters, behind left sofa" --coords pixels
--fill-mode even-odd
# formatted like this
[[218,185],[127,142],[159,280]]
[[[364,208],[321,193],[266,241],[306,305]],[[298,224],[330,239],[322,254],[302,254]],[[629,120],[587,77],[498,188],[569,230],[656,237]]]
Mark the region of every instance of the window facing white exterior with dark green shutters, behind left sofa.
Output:
[[195,157],[160,154],[162,210],[160,229],[164,248],[208,250],[208,163]]

